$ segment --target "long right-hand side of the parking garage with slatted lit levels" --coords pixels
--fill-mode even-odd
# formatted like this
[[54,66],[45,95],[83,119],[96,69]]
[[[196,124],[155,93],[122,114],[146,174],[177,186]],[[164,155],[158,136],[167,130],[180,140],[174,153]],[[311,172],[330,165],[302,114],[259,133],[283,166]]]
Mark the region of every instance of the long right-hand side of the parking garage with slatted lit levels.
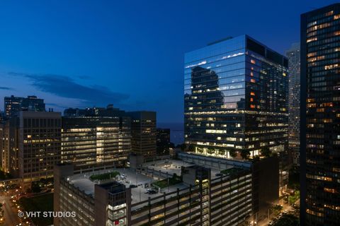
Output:
[[183,181],[188,175],[193,177],[194,185],[133,203],[131,225],[236,226],[251,221],[249,172],[211,179],[210,170],[205,167],[186,167],[182,171]]

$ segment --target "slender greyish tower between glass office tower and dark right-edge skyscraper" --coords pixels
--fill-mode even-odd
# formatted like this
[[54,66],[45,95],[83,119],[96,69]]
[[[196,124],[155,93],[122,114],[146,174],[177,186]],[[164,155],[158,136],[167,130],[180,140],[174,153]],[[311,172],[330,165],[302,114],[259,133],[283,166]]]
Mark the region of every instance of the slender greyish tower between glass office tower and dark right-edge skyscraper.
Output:
[[285,52],[288,58],[288,148],[293,165],[300,165],[300,43]]

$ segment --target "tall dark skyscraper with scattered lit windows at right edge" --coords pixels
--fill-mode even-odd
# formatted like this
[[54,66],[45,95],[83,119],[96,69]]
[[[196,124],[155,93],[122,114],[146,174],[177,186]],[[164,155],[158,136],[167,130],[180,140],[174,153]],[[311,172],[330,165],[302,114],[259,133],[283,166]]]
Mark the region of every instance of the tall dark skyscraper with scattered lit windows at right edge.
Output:
[[340,4],[302,14],[300,42],[300,220],[335,226],[340,220]]

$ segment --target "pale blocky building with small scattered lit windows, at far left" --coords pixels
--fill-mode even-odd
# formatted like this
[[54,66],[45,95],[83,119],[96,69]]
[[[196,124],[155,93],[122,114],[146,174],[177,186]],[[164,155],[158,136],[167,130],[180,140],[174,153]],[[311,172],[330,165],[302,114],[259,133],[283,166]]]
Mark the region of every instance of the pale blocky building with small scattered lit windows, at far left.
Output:
[[53,176],[60,162],[60,112],[17,112],[6,121],[4,170],[23,182]]

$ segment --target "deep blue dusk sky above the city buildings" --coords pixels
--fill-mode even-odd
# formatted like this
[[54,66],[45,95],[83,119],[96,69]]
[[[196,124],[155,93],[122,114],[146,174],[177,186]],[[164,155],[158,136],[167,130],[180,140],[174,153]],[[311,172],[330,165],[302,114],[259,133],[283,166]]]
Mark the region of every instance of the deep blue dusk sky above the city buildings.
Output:
[[5,95],[47,107],[154,110],[183,121],[183,54],[251,35],[284,53],[300,13],[336,1],[1,1],[0,109]]

